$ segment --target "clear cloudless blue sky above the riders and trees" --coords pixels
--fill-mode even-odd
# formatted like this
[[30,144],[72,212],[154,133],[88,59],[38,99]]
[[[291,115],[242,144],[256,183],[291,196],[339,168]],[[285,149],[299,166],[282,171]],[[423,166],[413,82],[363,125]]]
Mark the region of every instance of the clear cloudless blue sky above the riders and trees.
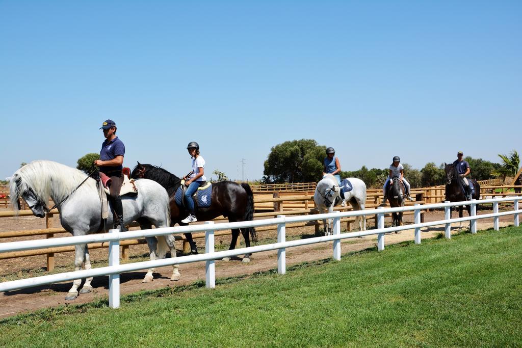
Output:
[[113,119],[125,164],[263,176],[312,138],[343,170],[520,149],[520,1],[0,1],[0,178],[75,166]]

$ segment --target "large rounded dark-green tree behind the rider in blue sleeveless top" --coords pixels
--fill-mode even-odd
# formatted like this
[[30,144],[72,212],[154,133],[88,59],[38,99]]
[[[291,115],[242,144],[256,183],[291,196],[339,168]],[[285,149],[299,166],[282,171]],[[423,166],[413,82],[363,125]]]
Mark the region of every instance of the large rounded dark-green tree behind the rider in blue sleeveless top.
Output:
[[326,147],[313,139],[285,141],[271,148],[265,161],[263,182],[313,182],[323,174]]

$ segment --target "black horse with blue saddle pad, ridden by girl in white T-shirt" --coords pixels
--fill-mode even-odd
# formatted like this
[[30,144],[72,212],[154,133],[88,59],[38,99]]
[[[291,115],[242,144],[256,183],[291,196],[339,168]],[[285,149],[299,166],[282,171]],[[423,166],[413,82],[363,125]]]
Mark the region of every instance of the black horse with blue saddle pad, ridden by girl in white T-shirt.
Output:
[[[179,207],[175,201],[175,193],[181,184],[181,178],[171,174],[155,165],[141,164],[134,167],[131,177],[151,179],[163,186],[170,199],[170,216],[171,226],[176,223],[186,225],[181,222],[188,211],[184,207]],[[231,181],[221,181],[212,184],[211,205],[207,208],[197,208],[196,218],[199,221],[209,221],[223,215],[228,218],[229,222],[236,221],[252,221],[254,218],[254,194],[248,184],[238,184]],[[252,241],[256,240],[256,231],[253,227],[241,229],[241,233],[245,238],[246,247],[250,247],[250,236]],[[185,233],[185,237],[191,246],[191,253],[197,254],[196,242],[192,238],[191,233]],[[232,230],[232,241],[229,250],[235,248],[239,237],[239,229]],[[245,254],[243,262],[250,261],[252,254]],[[225,258],[230,260],[230,258]]]

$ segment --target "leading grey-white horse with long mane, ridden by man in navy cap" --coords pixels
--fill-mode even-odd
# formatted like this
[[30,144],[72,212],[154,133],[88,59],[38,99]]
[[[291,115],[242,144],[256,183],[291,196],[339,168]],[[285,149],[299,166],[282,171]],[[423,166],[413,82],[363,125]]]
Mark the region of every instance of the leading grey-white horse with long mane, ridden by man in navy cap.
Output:
[[[82,182],[84,183],[80,185]],[[169,227],[170,208],[167,191],[160,184],[148,179],[136,180],[135,184],[139,192],[137,196],[122,196],[125,223],[137,221],[141,229],[151,229],[152,225],[157,228]],[[52,198],[60,211],[62,226],[74,236],[103,232],[104,224],[96,181],[77,169],[52,161],[31,162],[21,167],[11,178],[10,199],[15,211],[18,210],[17,202],[20,197],[39,218],[45,217],[47,202]],[[113,216],[109,213],[105,226],[110,228],[113,223]],[[176,257],[173,235],[150,237],[146,240],[151,260],[164,258],[169,249],[172,257]],[[85,269],[90,269],[87,245],[75,245],[75,249],[75,270],[80,270],[82,263]],[[178,265],[173,267],[171,280],[179,280]],[[148,270],[144,283],[152,281],[154,270]],[[92,291],[91,281],[92,278],[86,280],[80,294]],[[72,300],[78,297],[80,284],[81,279],[75,280],[65,299]]]

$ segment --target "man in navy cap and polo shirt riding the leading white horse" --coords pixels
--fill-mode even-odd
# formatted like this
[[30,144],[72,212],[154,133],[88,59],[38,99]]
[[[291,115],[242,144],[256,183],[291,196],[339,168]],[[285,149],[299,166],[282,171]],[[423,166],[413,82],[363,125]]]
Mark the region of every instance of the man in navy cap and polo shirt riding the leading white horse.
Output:
[[[123,220],[123,206],[120,198],[120,189],[123,184],[123,156],[125,155],[125,145],[116,136],[116,124],[112,119],[103,122],[100,129],[103,129],[103,141],[100,151],[100,159],[94,161],[94,165],[100,167],[100,172],[111,178],[109,187],[109,201],[111,202],[112,212],[115,215],[114,225],[120,224],[120,232],[127,231]],[[116,223],[117,220],[117,223]]]

